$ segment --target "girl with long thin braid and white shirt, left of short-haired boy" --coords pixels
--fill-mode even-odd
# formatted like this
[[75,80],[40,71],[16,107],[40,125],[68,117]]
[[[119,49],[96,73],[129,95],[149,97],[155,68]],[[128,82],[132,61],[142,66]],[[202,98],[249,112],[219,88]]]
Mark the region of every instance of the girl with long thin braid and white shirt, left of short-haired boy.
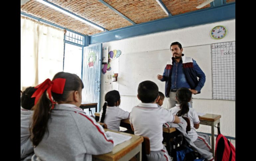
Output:
[[100,122],[105,123],[110,130],[119,131],[120,122],[129,119],[130,113],[117,106],[120,105],[120,95],[116,90],[109,91],[105,95],[105,103],[100,111]]

